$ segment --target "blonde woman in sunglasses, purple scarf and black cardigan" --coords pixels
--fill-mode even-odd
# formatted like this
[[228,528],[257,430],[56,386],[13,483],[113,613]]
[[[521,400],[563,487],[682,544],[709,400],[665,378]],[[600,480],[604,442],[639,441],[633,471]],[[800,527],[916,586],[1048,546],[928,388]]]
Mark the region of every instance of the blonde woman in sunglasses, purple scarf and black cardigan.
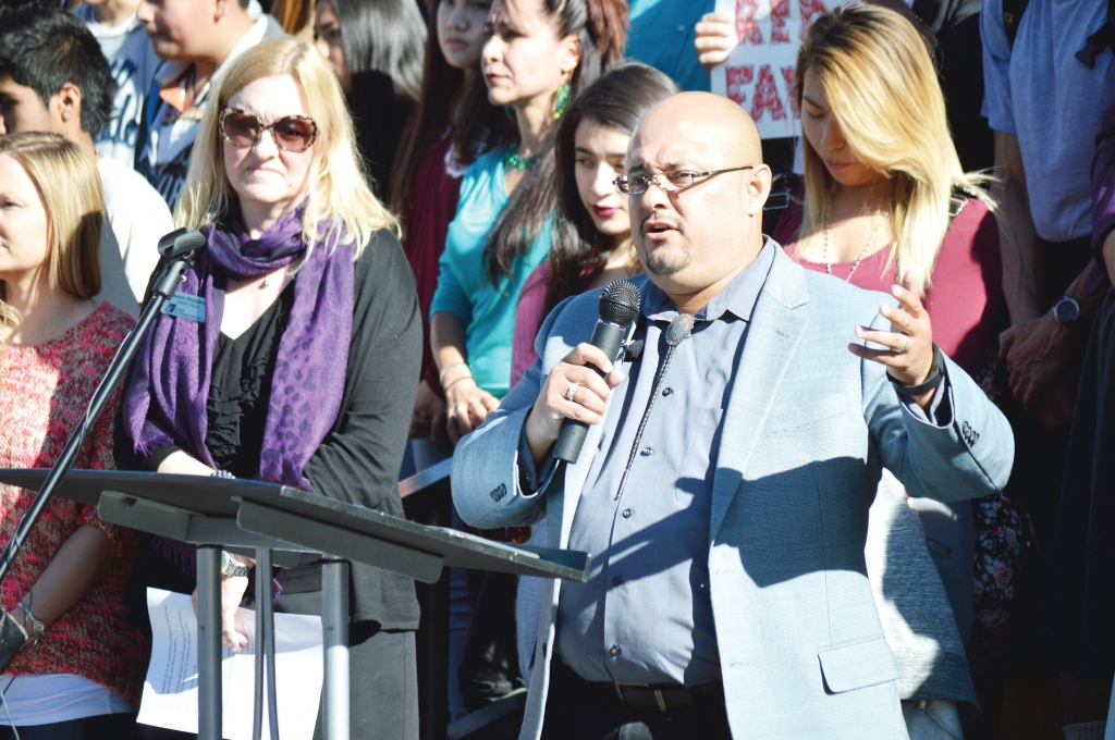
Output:
[[[176,213],[206,238],[180,290],[201,308],[161,317],[136,359],[122,467],[252,478],[403,516],[421,321],[395,217],[368,187],[345,111],[336,76],[303,41],[261,43],[229,68]],[[136,577],[193,588],[173,567],[192,558],[161,542]],[[251,567],[225,558],[233,650],[248,643],[235,614]],[[319,563],[278,581],[278,611],[320,613]],[[417,738],[414,585],[353,563],[350,591],[352,734]],[[376,669],[385,663],[397,670]]]

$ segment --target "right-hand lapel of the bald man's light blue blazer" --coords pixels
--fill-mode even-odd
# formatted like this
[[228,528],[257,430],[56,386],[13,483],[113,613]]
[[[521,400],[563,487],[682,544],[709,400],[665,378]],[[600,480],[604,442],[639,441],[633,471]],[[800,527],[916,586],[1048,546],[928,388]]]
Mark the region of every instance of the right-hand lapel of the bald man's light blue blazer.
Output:
[[739,371],[724,416],[712,484],[709,543],[716,539],[731,506],[778,387],[808,325],[804,312],[796,310],[807,301],[804,270],[778,249],[752,313]]

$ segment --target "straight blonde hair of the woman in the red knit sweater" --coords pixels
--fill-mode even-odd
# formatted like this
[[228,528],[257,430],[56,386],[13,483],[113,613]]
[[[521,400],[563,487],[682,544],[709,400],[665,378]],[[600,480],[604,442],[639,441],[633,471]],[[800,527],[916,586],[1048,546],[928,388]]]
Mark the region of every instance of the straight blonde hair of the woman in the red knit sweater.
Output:
[[[51,290],[79,299],[100,292],[100,234],[105,196],[93,157],[56,134],[0,136],[0,156],[16,159],[35,183],[47,212],[47,270]],[[0,281],[0,322],[19,321]]]

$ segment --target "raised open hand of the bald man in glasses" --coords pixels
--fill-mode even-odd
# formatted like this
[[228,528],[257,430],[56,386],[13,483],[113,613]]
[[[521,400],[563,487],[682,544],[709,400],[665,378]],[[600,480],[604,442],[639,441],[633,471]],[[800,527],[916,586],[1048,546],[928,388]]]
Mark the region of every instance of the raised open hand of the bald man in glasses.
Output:
[[[901,285],[891,285],[891,295],[898,299],[899,308],[880,306],[879,313],[891,320],[891,331],[876,331],[867,327],[856,327],[855,335],[860,339],[883,347],[885,350],[873,350],[863,344],[849,344],[852,354],[886,366],[891,378],[904,386],[920,386],[933,370],[933,328],[929,321],[929,312],[914,291],[920,290],[921,278],[910,271],[902,279]],[[935,389],[934,389],[935,390]],[[913,400],[923,409],[929,408],[933,400],[933,390]]]

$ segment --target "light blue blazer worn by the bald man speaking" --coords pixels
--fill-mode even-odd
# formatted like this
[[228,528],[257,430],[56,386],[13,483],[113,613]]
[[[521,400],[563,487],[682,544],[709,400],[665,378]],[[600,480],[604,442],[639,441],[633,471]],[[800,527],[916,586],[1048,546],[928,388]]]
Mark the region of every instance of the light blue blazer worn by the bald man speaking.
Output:
[[[637,280],[644,290],[647,279]],[[468,524],[545,517],[540,541],[568,546],[600,427],[590,428],[576,465],[530,498],[516,457],[550,369],[591,335],[599,294],[553,311],[536,342],[540,359],[458,446],[453,496]],[[999,490],[1010,474],[1010,427],[958,366],[948,362],[951,422],[937,427],[900,402],[883,366],[847,351],[856,325],[889,328],[878,314],[883,301],[894,302],[807,272],[779,247],[755,305],[721,422],[708,549],[736,740],[905,738],[899,668],[863,555],[880,475],[885,467],[911,496],[949,502]],[[610,405],[607,412],[618,411]],[[535,635],[525,645],[532,670],[520,738],[536,740],[561,583],[524,583],[520,595],[520,633]]]

